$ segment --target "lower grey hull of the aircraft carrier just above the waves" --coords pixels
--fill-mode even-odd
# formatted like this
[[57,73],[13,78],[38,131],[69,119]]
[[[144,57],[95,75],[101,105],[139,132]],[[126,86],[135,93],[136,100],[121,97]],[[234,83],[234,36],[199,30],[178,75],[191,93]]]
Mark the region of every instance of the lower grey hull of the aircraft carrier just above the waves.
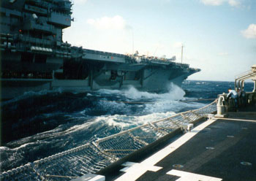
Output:
[[1,99],[13,99],[24,93],[42,90],[88,92],[99,89],[122,90],[134,87],[149,92],[167,91],[170,89],[170,83],[181,86],[181,83],[189,76],[189,73],[184,73],[169,80],[171,73],[170,71],[159,71],[143,80],[109,80],[108,76],[101,75],[92,80],[92,83],[90,83],[89,77],[85,80],[1,79]]

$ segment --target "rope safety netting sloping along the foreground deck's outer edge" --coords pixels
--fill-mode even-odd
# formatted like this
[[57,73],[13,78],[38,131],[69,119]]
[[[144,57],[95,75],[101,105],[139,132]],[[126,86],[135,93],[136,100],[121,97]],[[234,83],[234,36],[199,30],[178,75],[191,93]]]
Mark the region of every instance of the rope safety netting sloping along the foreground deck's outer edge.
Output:
[[0,180],[72,180],[96,173],[114,161],[170,134],[184,123],[217,111],[217,100],[200,109],[181,112],[118,134],[74,147],[33,163],[0,173]]

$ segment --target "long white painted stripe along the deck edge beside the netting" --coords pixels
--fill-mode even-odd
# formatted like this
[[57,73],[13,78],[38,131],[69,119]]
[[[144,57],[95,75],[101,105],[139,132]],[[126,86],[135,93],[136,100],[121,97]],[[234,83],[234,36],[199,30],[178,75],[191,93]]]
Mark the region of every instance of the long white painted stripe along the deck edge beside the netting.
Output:
[[179,139],[177,139],[175,142],[171,143],[170,145],[167,145],[167,147],[163,148],[162,150],[159,150],[154,155],[151,155],[151,157],[147,158],[145,161],[142,161],[141,163],[136,163],[132,166],[129,166],[128,168],[123,169],[125,172],[121,177],[118,177],[116,181],[132,181],[137,180],[140,176],[145,174],[147,171],[157,172],[159,169],[162,169],[159,166],[154,166],[159,161],[161,161],[163,158],[165,158],[170,153],[173,153],[178,147],[181,147],[181,145],[184,145],[189,139],[191,139],[193,136],[195,136],[197,133],[202,131],[204,128],[209,126],[211,123],[214,123],[217,119],[211,119],[207,120],[206,122],[200,124],[196,128],[192,129],[192,131],[188,132],[187,134],[184,134]]

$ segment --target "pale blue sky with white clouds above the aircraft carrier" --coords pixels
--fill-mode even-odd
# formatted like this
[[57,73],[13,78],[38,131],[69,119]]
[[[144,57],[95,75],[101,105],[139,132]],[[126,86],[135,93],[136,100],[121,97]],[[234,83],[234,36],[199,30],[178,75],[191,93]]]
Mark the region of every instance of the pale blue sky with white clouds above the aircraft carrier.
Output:
[[233,81],[256,64],[255,0],[73,0],[64,41],[86,49],[171,58],[189,80]]

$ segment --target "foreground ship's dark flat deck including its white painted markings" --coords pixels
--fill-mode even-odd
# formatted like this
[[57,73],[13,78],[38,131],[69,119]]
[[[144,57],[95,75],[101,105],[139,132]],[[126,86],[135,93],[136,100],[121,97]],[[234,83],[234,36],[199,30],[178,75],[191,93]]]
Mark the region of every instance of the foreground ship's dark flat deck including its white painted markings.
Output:
[[[256,180],[256,107],[213,118],[105,180]],[[140,158],[140,156],[138,156]]]

